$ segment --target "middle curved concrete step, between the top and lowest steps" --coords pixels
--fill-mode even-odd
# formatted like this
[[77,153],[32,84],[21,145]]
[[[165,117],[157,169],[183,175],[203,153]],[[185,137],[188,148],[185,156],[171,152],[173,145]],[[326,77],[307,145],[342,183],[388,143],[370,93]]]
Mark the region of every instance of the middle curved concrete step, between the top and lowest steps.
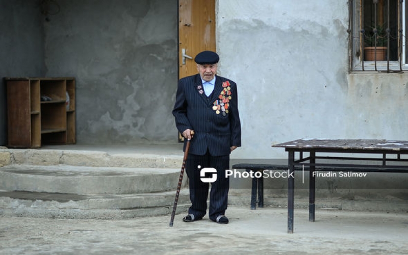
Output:
[[[0,189],[77,195],[138,194],[176,190],[180,169],[8,165]],[[187,178],[187,177],[186,177]]]

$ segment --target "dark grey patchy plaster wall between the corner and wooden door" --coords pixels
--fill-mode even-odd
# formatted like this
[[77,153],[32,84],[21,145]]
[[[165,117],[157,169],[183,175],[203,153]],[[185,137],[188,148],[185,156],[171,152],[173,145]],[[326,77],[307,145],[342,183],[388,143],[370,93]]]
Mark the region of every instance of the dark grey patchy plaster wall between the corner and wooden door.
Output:
[[60,0],[48,76],[77,78],[78,143],[176,143],[176,0]]

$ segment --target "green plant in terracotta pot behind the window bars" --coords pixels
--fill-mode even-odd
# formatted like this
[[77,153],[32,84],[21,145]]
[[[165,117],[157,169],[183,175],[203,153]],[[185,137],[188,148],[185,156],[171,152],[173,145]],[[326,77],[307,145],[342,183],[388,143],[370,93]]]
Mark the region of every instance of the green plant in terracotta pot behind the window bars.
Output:
[[386,60],[387,54],[387,32],[384,25],[371,27],[364,36],[364,59],[366,61]]

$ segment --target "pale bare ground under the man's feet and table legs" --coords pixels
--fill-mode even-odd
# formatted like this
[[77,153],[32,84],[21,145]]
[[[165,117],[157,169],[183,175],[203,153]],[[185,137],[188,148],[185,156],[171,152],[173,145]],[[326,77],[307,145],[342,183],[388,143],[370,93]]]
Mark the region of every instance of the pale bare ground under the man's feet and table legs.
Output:
[[[1,215],[1,211],[0,211]],[[0,253],[16,254],[408,254],[408,213],[229,207],[230,224],[176,215],[124,220],[0,216]]]

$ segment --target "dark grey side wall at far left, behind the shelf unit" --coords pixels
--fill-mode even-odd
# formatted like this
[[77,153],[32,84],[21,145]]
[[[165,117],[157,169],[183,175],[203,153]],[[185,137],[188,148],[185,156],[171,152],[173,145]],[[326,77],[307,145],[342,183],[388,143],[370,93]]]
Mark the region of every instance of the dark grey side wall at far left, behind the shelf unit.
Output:
[[0,146],[7,144],[4,77],[45,74],[40,1],[0,0]]

